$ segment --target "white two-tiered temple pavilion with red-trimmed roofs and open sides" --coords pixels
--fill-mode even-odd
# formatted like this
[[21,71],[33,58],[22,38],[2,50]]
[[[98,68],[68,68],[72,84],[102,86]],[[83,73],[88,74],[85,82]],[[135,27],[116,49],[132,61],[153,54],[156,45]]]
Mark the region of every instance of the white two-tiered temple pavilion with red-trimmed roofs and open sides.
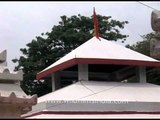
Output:
[[[97,34],[46,69],[37,79],[52,92],[23,118],[160,118],[160,86],[146,74],[160,61]],[[62,82],[71,81],[66,87]]]

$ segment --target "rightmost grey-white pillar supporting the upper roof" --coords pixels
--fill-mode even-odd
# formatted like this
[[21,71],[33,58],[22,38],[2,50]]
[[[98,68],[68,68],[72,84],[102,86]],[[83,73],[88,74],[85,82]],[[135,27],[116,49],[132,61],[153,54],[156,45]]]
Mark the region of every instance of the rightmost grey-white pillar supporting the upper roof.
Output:
[[140,83],[146,83],[146,67],[138,66],[136,74]]

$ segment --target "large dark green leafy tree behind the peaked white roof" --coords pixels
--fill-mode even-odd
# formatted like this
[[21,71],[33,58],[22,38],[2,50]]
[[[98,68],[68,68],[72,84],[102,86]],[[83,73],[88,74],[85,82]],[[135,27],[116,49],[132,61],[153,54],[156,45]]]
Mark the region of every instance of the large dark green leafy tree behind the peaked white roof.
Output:
[[[120,33],[127,21],[111,19],[111,16],[97,15],[99,21],[100,36],[108,40],[121,40],[124,42],[127,35]],[[43,94],[51,91],[47,80],[35,80],[36,74],[51,65],[65,54],[69,53],[85,41],[93,37],[93,17],[61,16],[59,25],[54,25],[51,32],[42,33],[37,36],[20,51],[23,56],[13,59],[18,63],[15,71],[22,69],[24,79],[21,83],[22,89],[27,94]]]

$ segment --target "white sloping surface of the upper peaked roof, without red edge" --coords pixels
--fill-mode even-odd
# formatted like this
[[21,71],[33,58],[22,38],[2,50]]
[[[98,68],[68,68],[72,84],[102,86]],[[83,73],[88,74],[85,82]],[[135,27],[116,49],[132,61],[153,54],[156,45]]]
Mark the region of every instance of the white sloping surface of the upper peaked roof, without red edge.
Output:
[[156,59],[125,48],[124,46],[113,43],[112,41],[105,40],[101,37],[100,39],[101,40],[97,39],[96,37],[91,38],[41,72],[73,58],[119,59],[159,62]]

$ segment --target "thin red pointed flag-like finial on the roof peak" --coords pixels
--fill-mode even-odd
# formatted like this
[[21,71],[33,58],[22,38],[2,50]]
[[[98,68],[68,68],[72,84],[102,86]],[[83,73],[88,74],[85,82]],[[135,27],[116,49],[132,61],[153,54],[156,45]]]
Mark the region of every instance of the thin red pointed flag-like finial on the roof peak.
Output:
[[95,8],[93,9],[93,21],[94,21],[94,35],[99,39],[98,19],[96,16]]

